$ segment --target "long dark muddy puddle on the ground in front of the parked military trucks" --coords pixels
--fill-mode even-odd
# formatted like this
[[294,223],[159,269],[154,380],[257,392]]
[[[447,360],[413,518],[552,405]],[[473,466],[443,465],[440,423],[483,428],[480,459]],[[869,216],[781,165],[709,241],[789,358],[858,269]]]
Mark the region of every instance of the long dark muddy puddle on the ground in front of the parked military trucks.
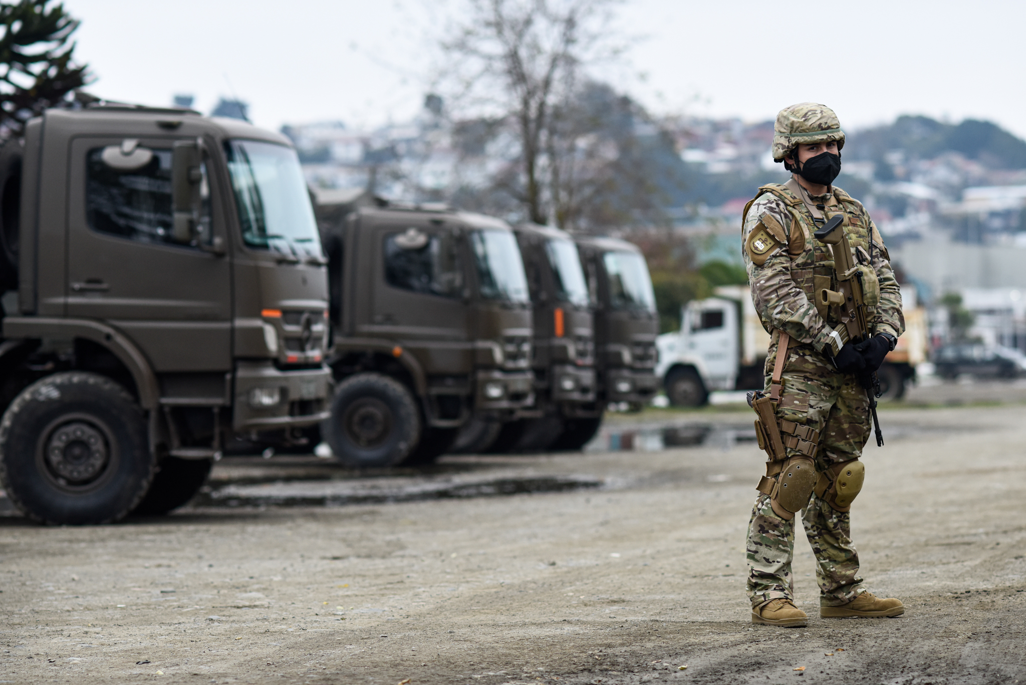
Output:
[[568,492],[597,489],[605,485],[603,479],[587,475],[279,481],[260,485],[232,484],[218,489],[204,488],[192,501],[192,506],[346,506]]

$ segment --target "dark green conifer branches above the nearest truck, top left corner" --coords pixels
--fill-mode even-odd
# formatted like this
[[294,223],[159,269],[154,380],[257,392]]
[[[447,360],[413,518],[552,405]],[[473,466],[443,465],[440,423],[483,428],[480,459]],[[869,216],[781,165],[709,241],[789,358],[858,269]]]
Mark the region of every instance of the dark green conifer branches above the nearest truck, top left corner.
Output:
[[85,85],[87,68],[73,61],[78,20],[51,0],[0,2],[0,135],[18,136],[25,122]]

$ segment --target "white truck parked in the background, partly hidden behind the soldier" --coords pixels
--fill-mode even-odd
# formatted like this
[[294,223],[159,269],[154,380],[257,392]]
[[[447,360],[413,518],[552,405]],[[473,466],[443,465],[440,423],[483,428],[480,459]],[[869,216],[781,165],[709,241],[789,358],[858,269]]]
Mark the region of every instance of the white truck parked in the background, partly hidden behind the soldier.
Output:
[[[902,288],[906,332],[887,354],[877,375],[885,398],[897,399],[926,360],[925,311],[915,289]],[[671,405],[701,407],[714,390],[761,389],[770,334],[752,306],[748,286],[721,286],[713,297],[694,300],[681,309],[680,331],[656,340],[659,365]]]

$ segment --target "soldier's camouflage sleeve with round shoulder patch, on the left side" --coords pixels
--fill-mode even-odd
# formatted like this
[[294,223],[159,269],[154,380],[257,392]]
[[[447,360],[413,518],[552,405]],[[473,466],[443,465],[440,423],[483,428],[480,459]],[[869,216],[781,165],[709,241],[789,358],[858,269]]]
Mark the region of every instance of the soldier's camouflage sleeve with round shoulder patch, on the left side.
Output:
[[[755,200],[745,218],[746,243],[749,233],[767,215],[771,221],[776,220],[784,228],[785,236],[790,235],[790,214],[780,200],[765,193]],[[827,326],[804,291],[791,278],[791,256],[786,248],[786,242],[780,242],[768,255],[761,256],[765,258],[761,264],[755,264],[748,250],[742,250],[748,282],[752,288],[752,304],[762,320],[772,328],[787,333],[798,342],[811,343],[822,351],[829,344],[828,336],[833,329]]]

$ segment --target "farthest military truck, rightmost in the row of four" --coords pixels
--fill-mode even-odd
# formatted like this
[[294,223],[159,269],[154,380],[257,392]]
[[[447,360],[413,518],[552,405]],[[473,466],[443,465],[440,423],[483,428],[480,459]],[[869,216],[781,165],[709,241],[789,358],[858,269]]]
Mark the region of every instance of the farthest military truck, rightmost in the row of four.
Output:
[[[638,411],[659,389],[659,316],[648,266],[637,245],[626,240],[585,235],[576,240],[595,303],[596,401],[600,407]],[[560,441],[583,446],[600,421],[568,421]]]

